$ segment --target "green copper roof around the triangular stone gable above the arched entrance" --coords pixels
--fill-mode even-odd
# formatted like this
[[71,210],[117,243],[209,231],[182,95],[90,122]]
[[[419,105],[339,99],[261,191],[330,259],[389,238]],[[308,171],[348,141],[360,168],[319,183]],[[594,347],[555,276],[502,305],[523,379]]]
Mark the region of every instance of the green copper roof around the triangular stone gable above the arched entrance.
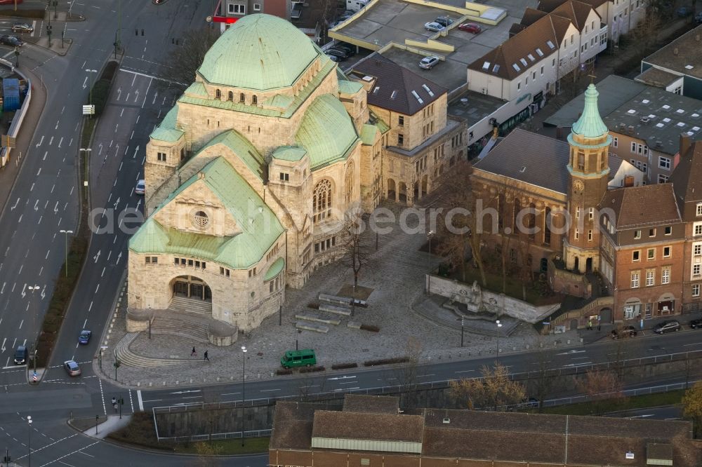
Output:
[[[223,157],[208,163],[198,174],[183,183],[130,238],[129,249],[138,253],[172,254],[208,259],[231,269],[248,269],[263,258],[284,232],[278,218],[256,191],[246,183]],[[164,205],[177,198],[195,182],[202,181],[220,200],[237,222],[241,233],[219,237],[180,231],[155,220]]]

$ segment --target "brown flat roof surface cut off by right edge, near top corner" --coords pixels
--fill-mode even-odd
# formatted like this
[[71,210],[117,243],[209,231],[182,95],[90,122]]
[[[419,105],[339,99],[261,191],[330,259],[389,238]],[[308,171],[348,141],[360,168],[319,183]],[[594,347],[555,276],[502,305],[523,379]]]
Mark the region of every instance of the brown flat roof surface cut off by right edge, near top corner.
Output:
[[697,39],[701,35],[702,25],[682,34],[667,46],[659,48],[642,62],[702,79],[702,42]]

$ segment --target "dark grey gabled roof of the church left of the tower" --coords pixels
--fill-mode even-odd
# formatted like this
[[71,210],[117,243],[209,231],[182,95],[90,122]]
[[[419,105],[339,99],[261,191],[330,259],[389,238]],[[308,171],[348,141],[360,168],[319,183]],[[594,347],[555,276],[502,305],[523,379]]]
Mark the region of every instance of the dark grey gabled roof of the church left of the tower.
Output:
[[567,194],[568,161],[567,142],[517,128],[473,167]]

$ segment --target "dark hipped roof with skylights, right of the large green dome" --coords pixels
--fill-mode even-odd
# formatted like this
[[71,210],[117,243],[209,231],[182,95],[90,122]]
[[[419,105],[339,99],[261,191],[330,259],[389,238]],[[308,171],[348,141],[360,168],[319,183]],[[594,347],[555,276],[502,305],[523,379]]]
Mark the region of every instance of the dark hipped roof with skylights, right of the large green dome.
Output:
[[448,92],[446,88],[378,53],[357,63],[351,74],[359,80],[364,76],[376,78],[375,87],[368,93],[369,105],[404,115],[416,114]]

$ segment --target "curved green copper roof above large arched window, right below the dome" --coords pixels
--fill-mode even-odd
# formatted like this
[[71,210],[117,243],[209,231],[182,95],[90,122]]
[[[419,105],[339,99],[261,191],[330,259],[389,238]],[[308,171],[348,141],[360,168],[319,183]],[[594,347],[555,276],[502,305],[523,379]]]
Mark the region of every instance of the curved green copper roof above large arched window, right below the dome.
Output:
[[305,111],[295,141],[307,149],[310,169],[345,158],[358,140],[356,127],[344,104],[331,94],[322,94]]

